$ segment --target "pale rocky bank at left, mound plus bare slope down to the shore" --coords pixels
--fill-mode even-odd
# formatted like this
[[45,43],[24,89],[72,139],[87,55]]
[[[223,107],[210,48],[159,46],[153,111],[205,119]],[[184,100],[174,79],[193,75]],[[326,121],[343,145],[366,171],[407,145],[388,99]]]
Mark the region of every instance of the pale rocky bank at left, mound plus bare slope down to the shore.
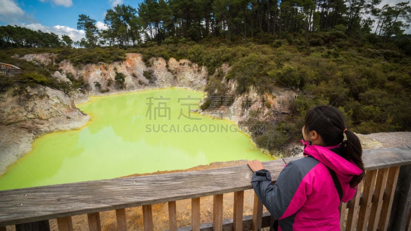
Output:
[[49,87],[15,87],[0,94],[0,175],[31,149],[37,134],[80,128],[89,119],[70,97]]

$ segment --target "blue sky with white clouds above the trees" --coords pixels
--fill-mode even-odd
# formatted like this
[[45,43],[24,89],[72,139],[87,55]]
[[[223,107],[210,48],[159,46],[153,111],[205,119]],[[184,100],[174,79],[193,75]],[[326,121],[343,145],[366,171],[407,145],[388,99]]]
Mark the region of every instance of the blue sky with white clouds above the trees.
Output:
[[[108,9],[117,4],[138,8],[143,0],[0,0],[0,25],[17,25],[32,30],[67,34],[73,41],[84,37],[84,31],[77,29],[80,14],[86,14],[97,21],[99,29],[105,28],[103,20]],[[382,0],[385,4],[409,0]],[[411,28],[405,33],[411,34]]]

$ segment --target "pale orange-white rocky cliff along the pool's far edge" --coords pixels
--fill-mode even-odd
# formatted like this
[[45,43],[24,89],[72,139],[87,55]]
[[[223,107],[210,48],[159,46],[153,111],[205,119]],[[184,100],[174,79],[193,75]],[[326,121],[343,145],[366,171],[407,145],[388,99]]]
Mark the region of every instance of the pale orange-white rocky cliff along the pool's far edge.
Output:
[[[188,60],[169,61],[152,58],[146,66],[141,54],[127,53],[124,62],[112,64],[87,64],[74,67],[64,60],[59,64],[59,74],[71,73],[75,78],[84,78],[90,94],[119,92],[162,87],[186,87],[203,90],[207,83],[207,70]],[[116,84],[116,74],[125,76],[124,85]]]

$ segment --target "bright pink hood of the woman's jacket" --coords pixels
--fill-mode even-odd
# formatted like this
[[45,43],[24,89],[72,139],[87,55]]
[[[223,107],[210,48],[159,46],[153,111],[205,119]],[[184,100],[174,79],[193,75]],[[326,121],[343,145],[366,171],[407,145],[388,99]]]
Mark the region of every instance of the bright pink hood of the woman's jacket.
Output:
[[304,140],[302,140],[301,142],[305,146],[303,152],[304,156],[313,157],[314,159],[323,163],[325,166],[334,170],[336,174],[346,178],[348,181],[352,178],[352,176],[358,176],[363,172],[356,164],[344,159],[337,153],[334,153],[330,150],[340,147],[340,144],[323,147],[319,145],[310,145],[309,142]]

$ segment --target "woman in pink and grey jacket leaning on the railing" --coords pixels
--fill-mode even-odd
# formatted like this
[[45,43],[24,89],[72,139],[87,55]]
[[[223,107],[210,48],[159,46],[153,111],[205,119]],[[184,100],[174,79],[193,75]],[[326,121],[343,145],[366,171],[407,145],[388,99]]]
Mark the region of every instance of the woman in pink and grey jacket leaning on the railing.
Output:
[[331,106],[309,110],[302,133],[305,158],[288,163],[275,184],[261,162],[249,161],[251,184],[278,219],[275,229],[340,230],[340,201],[351,200],[364,178],[360,140]]

